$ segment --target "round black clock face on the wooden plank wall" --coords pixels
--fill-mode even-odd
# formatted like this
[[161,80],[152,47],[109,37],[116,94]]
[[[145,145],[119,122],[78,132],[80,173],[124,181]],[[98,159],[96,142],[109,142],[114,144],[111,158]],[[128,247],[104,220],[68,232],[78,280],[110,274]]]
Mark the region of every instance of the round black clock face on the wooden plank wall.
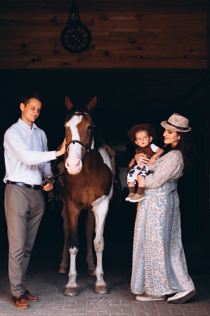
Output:
[[61,33],[60,40],[67,51],[77,54],[89,47],[91,43],[91,32],[83,24],[77,28],[66,26]]

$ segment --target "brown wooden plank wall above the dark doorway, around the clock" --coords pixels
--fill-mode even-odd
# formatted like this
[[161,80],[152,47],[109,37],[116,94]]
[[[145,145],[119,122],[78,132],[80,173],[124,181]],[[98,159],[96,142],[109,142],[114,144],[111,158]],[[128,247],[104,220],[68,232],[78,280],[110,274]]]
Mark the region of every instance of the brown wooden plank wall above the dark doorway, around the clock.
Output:
[[207,68],[205,10],[78,2],[92,42],[71,54],[60,42],[71,2],[8,1],[0,5],[0,69]]

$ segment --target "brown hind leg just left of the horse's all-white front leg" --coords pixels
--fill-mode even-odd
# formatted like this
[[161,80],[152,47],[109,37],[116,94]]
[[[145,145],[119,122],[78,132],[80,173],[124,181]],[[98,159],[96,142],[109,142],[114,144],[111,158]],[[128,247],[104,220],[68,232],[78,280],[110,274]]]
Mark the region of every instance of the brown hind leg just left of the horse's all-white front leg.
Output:
[[88,275],[95,276],[96,266],[94,264],[93,255],[93,232],[95,229],[95,216],[91,210],[88,210],[88,216],[86,219],[86,238],[87,238],[87,256],[86,262],[88,264]]

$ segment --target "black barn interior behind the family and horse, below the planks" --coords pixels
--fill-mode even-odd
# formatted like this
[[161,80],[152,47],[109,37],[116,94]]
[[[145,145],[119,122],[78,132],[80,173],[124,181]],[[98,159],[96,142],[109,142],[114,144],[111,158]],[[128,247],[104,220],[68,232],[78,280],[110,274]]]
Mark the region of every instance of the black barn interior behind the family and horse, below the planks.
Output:
[[[123,171],[127,170],[134,146],[130,143],[126,132],[134,124],[151,122],[159,135],[158,144],[162,146],[163,131],[160,122],[172,113],[187,116],[190,120],[190,126],[192,129],[194,128],[192,134],[196,145],[195,165],[199,168],[194,168],[190,175],[185,175],[179,180],[183,242],[190,249],[195,247],[196,251],[205,252],[204,212],[200,207],[201,201],[197,198],[196,193],[201,194],[199,191],[200,183],[205,181],[199,165],[199,161],[204,155],[203,126],[201,123],[202,117],[205,115],[205,111],[202,109],[205,99],[204,81],[205,72],[203,70],[4,70],[1,77],[2,104],[4,104],[1,116],[1,135],[19,117],[19,100],[22,91],[25,88],[35,89],[40,91],[44,97],[43,109],[37,119],[37,124],[45,130],[48,136],[49,150],[54,150],[64,137],[65,95],[72,97],[75,102],[80,100],[84,103],[88,103],[94,95],[97,95],[95,108],[97,124],[105,142],[115,150],[116,162],[122,170],[120,178],[123,207],[118,208],[111,204],[110,214],[106,222],[107,242],[109,237],[112,240],[116,236],[119,238],[121,234],[123,236],[122,239],[120,238],[121,242],[123,240],[126,242],[129,236],[131,249],[135,205],[124,202],[127,188],[124,184]],[[198,124],[200,125],[198,126]],[[1,165],[3,178],[3,149]],[[4,184],[2,187],[3,192]],[[48,209],[50,205],[47,203],[46,207]],[[60,232],[61,235],[56,236],[54,234],[55,227],[49,225],[53,219],[51,215],[51,212],[46,212],[47,225],[43,221],[40,234],[49,238],[51,232],[52,238],[61,237],[62,240],[62,232]],[[1,216],[4,218],[3,207]],[[117,224],[119,218],[123,219],[123,222]],[[61,221],[59,215],[56,215],[55,219],[56,223],[57,220],[58,222]],[[113,225],[115,221],[116,226]],[[59,230],[61,229],[60,222]],[[5,230],[3,239],[7,240]]]

